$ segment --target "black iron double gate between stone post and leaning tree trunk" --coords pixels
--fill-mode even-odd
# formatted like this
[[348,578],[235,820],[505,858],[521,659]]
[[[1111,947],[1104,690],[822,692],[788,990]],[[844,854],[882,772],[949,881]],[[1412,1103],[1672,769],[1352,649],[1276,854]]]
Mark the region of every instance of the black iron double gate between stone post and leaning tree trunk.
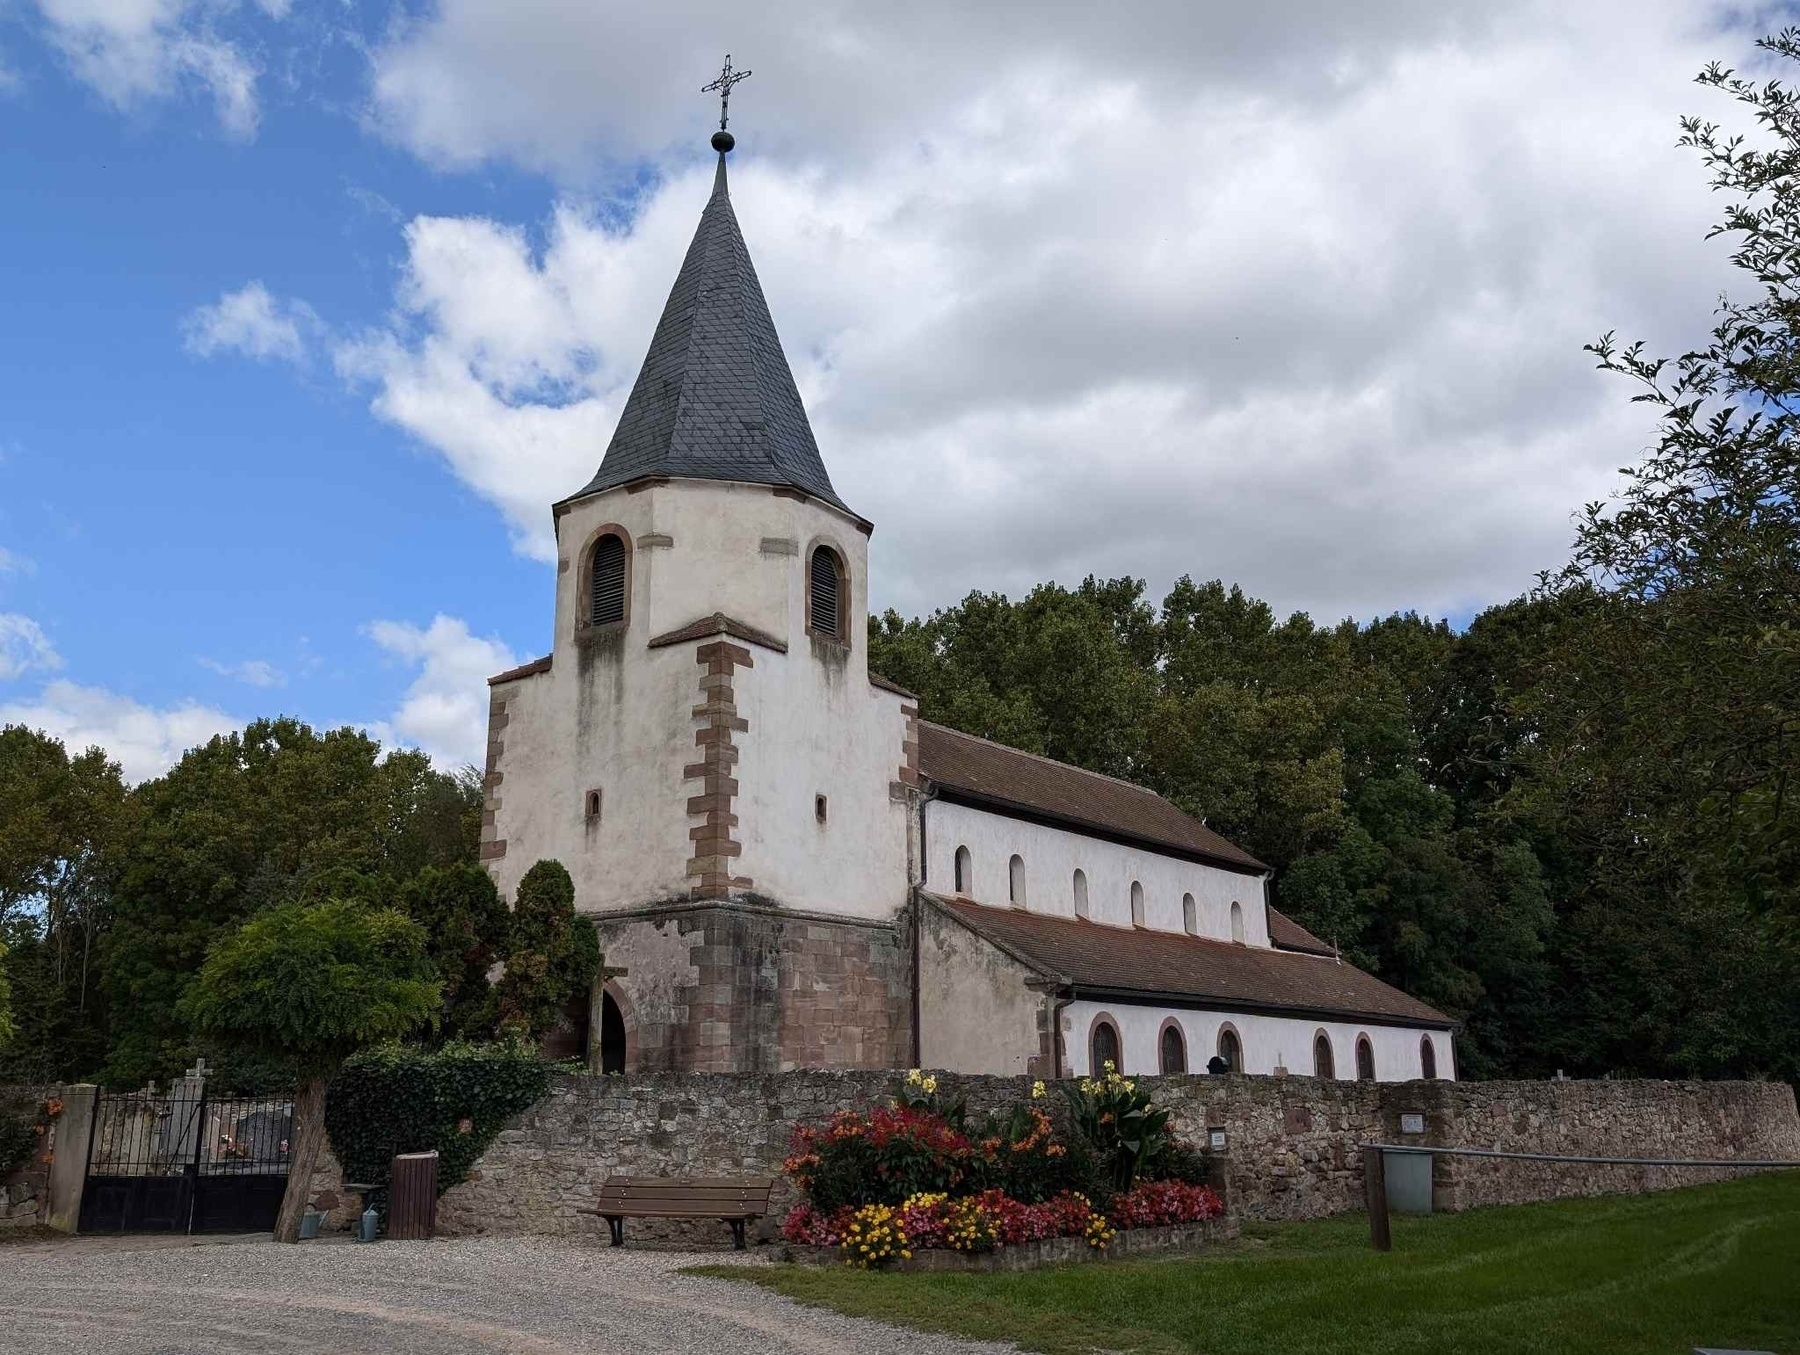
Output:
[[103,1092],[94,1105],[83,1233],[265,1233],[288,1186],[286,1096]]

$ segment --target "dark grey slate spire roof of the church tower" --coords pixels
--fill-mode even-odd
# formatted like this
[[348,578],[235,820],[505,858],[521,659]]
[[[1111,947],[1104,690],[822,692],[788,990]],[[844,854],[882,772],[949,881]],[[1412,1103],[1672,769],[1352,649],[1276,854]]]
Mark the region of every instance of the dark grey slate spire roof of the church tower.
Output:
[[850,513],[824,473],[743,247],[724,153],[607,455],[572,497],[646,475],[781,484]]

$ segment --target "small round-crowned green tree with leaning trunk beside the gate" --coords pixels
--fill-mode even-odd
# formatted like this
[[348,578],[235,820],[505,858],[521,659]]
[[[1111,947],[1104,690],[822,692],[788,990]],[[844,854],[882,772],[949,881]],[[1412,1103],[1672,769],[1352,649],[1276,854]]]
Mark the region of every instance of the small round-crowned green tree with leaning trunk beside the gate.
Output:
[[319,1150],[326,1081],[356,1049],[437,1018],[425,929],[355,900],[268,909],[207,950],[180,1015],[225,1047],[293,1069],[293,1139],[275,1240],[295,1242]]

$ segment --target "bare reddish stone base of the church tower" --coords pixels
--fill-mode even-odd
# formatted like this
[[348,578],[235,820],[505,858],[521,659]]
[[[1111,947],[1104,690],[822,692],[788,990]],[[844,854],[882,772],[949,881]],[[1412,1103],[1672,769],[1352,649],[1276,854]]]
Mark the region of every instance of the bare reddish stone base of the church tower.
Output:
[[[754,903],[590,914],[635,1072],[887,1069],[911,1058],[911,927]],[[621,972],[623,970],[623,972]]]

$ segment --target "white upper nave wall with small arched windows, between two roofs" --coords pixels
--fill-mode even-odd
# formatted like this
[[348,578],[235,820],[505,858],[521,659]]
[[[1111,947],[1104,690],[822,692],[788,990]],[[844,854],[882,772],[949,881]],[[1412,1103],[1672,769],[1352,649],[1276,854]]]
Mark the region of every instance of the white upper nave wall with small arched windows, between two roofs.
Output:
[[1087,875],[1087,916],[1130,927],[1130,885],[1143,885],[1145,927],[1181,932],[1181,896],[1193,894],[1199,936],[1231,938],[1231,903],[1244,909],[1244,943],[1269,945],[1264,878],[1217,866],[1163,857],[1064,828],[1012,819],[968,804],[931,801],[925,806],[925,887],[954,894],[956,849],[968,848],[972,878],[965,894],[977,903],[1010,905],[1008,862],[1024,860],[1024,907],[1058,918],[1075,916],[1075,871]]

